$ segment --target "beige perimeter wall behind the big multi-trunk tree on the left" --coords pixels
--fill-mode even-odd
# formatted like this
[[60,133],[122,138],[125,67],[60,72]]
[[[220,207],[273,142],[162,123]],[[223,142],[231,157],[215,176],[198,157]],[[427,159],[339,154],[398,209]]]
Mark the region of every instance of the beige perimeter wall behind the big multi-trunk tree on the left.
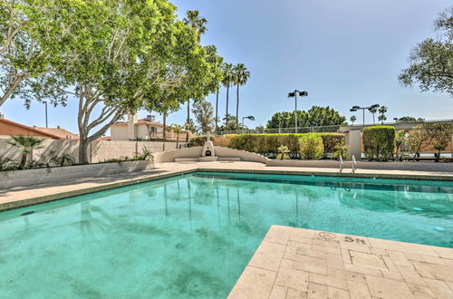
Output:
[[[0,140],[0,158],[19,160],[21,149],[8,144],[9,140]],[[162,142],[151,141],[93,141],[88,147],[88,159],[92,163],[101,162],[106,159],[119,159],[120,157],[132,157],[136,152],[146,148],[150,152],[161,152]],[[165,150],[176,149],[175,142],[166,142]],[[79,162],[79,141],[77,140],[44,140],[42,149],[34,149],[29,159],[45,161],[54,155],[61,156],[69,154],[76,163]]]

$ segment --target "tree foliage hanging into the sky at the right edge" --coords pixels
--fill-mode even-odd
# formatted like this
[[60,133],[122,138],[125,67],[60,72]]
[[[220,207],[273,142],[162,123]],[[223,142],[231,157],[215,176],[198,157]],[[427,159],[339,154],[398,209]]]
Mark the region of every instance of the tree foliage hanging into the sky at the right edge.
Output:
[[415,46],[410,66],[400,73],[403,85],[416,83],[422,92],[448,92],[453,95],[453,6],[435,22],[439,38],[428,38]]

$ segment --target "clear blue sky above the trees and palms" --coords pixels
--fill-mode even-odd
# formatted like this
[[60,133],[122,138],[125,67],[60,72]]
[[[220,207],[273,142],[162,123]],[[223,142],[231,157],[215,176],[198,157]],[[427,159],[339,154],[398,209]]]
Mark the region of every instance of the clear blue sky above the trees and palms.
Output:
[[[379,103],[387,117],[453,117],[453,99],[444,93],[419,92],[400,85],[414,45],[436,36],[433,21],[451,5],[447,0],[174,0],[182,17],[198,9],[207,17],[204,44],[216,44],[229,63],[245,63],[251,72],[241,89],[240,115],[254,115],[265,125],[276,111],[293,111],[294,89],[309,92],[298,107],[331,106],[348,119],[352,105]],[[229,111],[236,111],[236,92]],[[219,112],[225,113],[221,91]],[[208,97],[215,102],[215,96]],[[20,99],[1,107],[7,119],[44,126],[43,104],[27,111]],[[140,117],[147,112],[140,111]],[[356,114],[361,120],[361,114]],[[366,121],[371,121],[368,114]],[[161,117],[158,115],[158,120]],[[169,115],[182,124],[185,109]],[[77,105],[49,109],[49,126],[77,132]]]

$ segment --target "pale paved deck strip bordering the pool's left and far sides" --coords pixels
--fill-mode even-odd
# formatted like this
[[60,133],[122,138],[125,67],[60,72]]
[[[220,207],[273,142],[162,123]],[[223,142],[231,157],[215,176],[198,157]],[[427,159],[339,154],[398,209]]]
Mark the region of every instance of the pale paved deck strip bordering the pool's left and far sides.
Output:
[[[266,167],[265,164],[243,161],[161,163],[156,164],[155,169],[135,173],[109,175],[102,178],[78,178],[67,182],[18,188],[3,188],[0,189],[0,211],[17,207],[26,207],[61,198],[70,198],[159,178],[168,178],[195,171],[229,171],[358,178],[436,179],[453,181],[453,173],[432,171],[357,169],[355,173],[352,173],[351,169],[344,169],[342,174],[340,174],[338,169]],[[0,177],[0,179],[2,178]]]

